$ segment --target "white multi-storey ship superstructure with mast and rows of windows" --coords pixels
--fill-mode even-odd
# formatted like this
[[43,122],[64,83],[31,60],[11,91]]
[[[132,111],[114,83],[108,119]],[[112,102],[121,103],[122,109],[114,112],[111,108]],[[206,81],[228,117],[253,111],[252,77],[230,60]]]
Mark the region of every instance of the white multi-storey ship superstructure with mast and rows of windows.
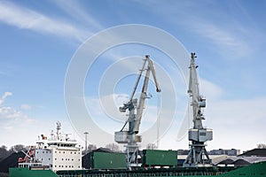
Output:
[[[39,137],[30,160],[31,167],[38,164],[54,172],[82,169],[82,147],[75,140],[70,140],[67,134],[63,137],[60,129],[61,124],[57,122],[56,135],[51,132],[49,139],[44,135]],[[30,164],[28,162],[20,163],[20,166]]]

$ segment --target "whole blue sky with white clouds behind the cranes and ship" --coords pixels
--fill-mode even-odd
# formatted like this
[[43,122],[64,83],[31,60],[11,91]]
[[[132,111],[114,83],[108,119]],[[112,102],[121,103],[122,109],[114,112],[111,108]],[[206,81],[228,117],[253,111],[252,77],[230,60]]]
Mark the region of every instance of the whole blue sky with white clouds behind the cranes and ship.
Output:
[[141,146],[188,149],[191,52],[207,98],[203,125],[214,131],[207,150],[266,143],[265,7],[263,0],[0,1],[0,145],[34,144],[57,121],[81,144],[85,131],[98,147],[113,143],[127,120],[118,107],[149,54],[161,93],[151,76]]

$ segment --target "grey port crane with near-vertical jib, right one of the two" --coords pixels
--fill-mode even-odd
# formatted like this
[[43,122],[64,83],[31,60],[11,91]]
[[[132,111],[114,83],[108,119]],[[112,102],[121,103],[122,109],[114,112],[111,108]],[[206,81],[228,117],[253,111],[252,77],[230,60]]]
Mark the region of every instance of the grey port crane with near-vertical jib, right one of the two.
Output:
[[211,160],[208,157],[205,142],[213,139],[213,130],[202,126],[202,119],[204,115],[202,109],[206,107],[206,99],[200,96],[199,80],[197,74],[198,65],[195,65],[195,53],[192,53],[190,69],[190,80],[188,94],[192,97],[192,118],[193,128],[189,129],[190,151],[184,161],[184,166],[209,166]]

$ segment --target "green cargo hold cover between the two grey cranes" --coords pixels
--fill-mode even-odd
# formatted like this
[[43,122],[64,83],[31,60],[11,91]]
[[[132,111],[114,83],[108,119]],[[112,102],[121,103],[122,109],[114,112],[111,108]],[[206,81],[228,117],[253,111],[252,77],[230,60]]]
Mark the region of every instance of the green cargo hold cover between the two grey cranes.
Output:
[[143,165],[177,165],[177,150],[143,150]]

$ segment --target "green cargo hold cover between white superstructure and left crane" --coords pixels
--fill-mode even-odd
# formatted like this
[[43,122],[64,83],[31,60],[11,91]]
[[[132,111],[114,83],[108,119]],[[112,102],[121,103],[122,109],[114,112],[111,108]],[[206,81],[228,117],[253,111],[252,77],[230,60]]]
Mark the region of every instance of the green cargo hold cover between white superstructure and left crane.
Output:
[[115,152],[93,152],[91,165],[94,169],[126,169],[126,154]]

